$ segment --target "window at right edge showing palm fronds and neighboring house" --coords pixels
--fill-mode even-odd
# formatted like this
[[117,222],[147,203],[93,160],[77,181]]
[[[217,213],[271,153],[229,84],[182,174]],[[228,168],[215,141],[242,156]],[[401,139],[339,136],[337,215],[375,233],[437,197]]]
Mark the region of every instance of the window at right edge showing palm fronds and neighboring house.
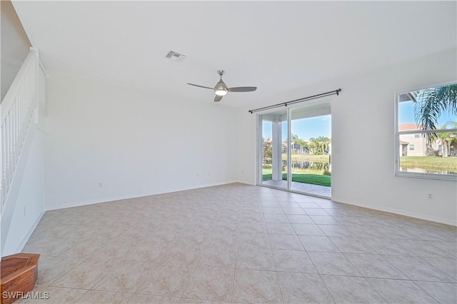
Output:
[[457,181],[457,83],[396,94],[396,176]]

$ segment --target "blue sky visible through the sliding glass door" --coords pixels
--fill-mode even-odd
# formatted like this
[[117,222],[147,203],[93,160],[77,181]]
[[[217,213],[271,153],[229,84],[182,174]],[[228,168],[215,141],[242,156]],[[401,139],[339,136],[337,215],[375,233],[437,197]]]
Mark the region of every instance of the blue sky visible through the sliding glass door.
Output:
[[[271,122],[263,121],[263,138],[271,138]],[[292,121],[292,134],[308,141],[311,137],[326,136],[331,138],[331,115]],[[283,141],[287,138],[287,123],[283,123]]]

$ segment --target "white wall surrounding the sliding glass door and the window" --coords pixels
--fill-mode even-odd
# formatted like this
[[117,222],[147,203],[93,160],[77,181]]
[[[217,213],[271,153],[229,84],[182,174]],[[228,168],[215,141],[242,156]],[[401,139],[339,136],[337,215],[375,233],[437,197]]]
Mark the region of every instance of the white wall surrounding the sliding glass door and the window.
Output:
[[[373,59],[376,60],[376,59]],[[283,92],[292,100],[342,88],[332,102],[332,199],[457,225],[457,183],[399,178],[394,168],[394,93],[457,80],[456,49],[358,76]],[[256,116],[238,111],[238,181],[256,182]],[[374,147],[371,149],[371,147]],[[426,193],[434,193],[428,201]]]

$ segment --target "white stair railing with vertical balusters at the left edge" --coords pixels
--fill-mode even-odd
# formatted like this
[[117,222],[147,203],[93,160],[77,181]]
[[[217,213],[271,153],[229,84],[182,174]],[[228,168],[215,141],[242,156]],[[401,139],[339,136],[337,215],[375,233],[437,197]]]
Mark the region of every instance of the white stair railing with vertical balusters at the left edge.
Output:
[[[34,112],[38,111],[40,99],[44,96],[44,78],[38,50],[31,48],[0,105],[0,214],[3,213],[27,133],[34,121]],[[35,116],[35,123],[38,123],[38,115]]]

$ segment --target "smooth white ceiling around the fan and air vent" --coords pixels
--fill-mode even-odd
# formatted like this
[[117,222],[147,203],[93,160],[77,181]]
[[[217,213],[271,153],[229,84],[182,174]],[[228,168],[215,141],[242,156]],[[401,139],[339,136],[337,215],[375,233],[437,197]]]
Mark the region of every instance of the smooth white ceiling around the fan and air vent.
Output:
[[[243,106],[456,48],[456,1],[14,1],[50,71]],[[178,64],[170,51],[187,55]],[[334,88],[329,88],[333,90]],[[318,93],[318,92],[313,92]],[[304,96],[293,96],[300,98]]]

